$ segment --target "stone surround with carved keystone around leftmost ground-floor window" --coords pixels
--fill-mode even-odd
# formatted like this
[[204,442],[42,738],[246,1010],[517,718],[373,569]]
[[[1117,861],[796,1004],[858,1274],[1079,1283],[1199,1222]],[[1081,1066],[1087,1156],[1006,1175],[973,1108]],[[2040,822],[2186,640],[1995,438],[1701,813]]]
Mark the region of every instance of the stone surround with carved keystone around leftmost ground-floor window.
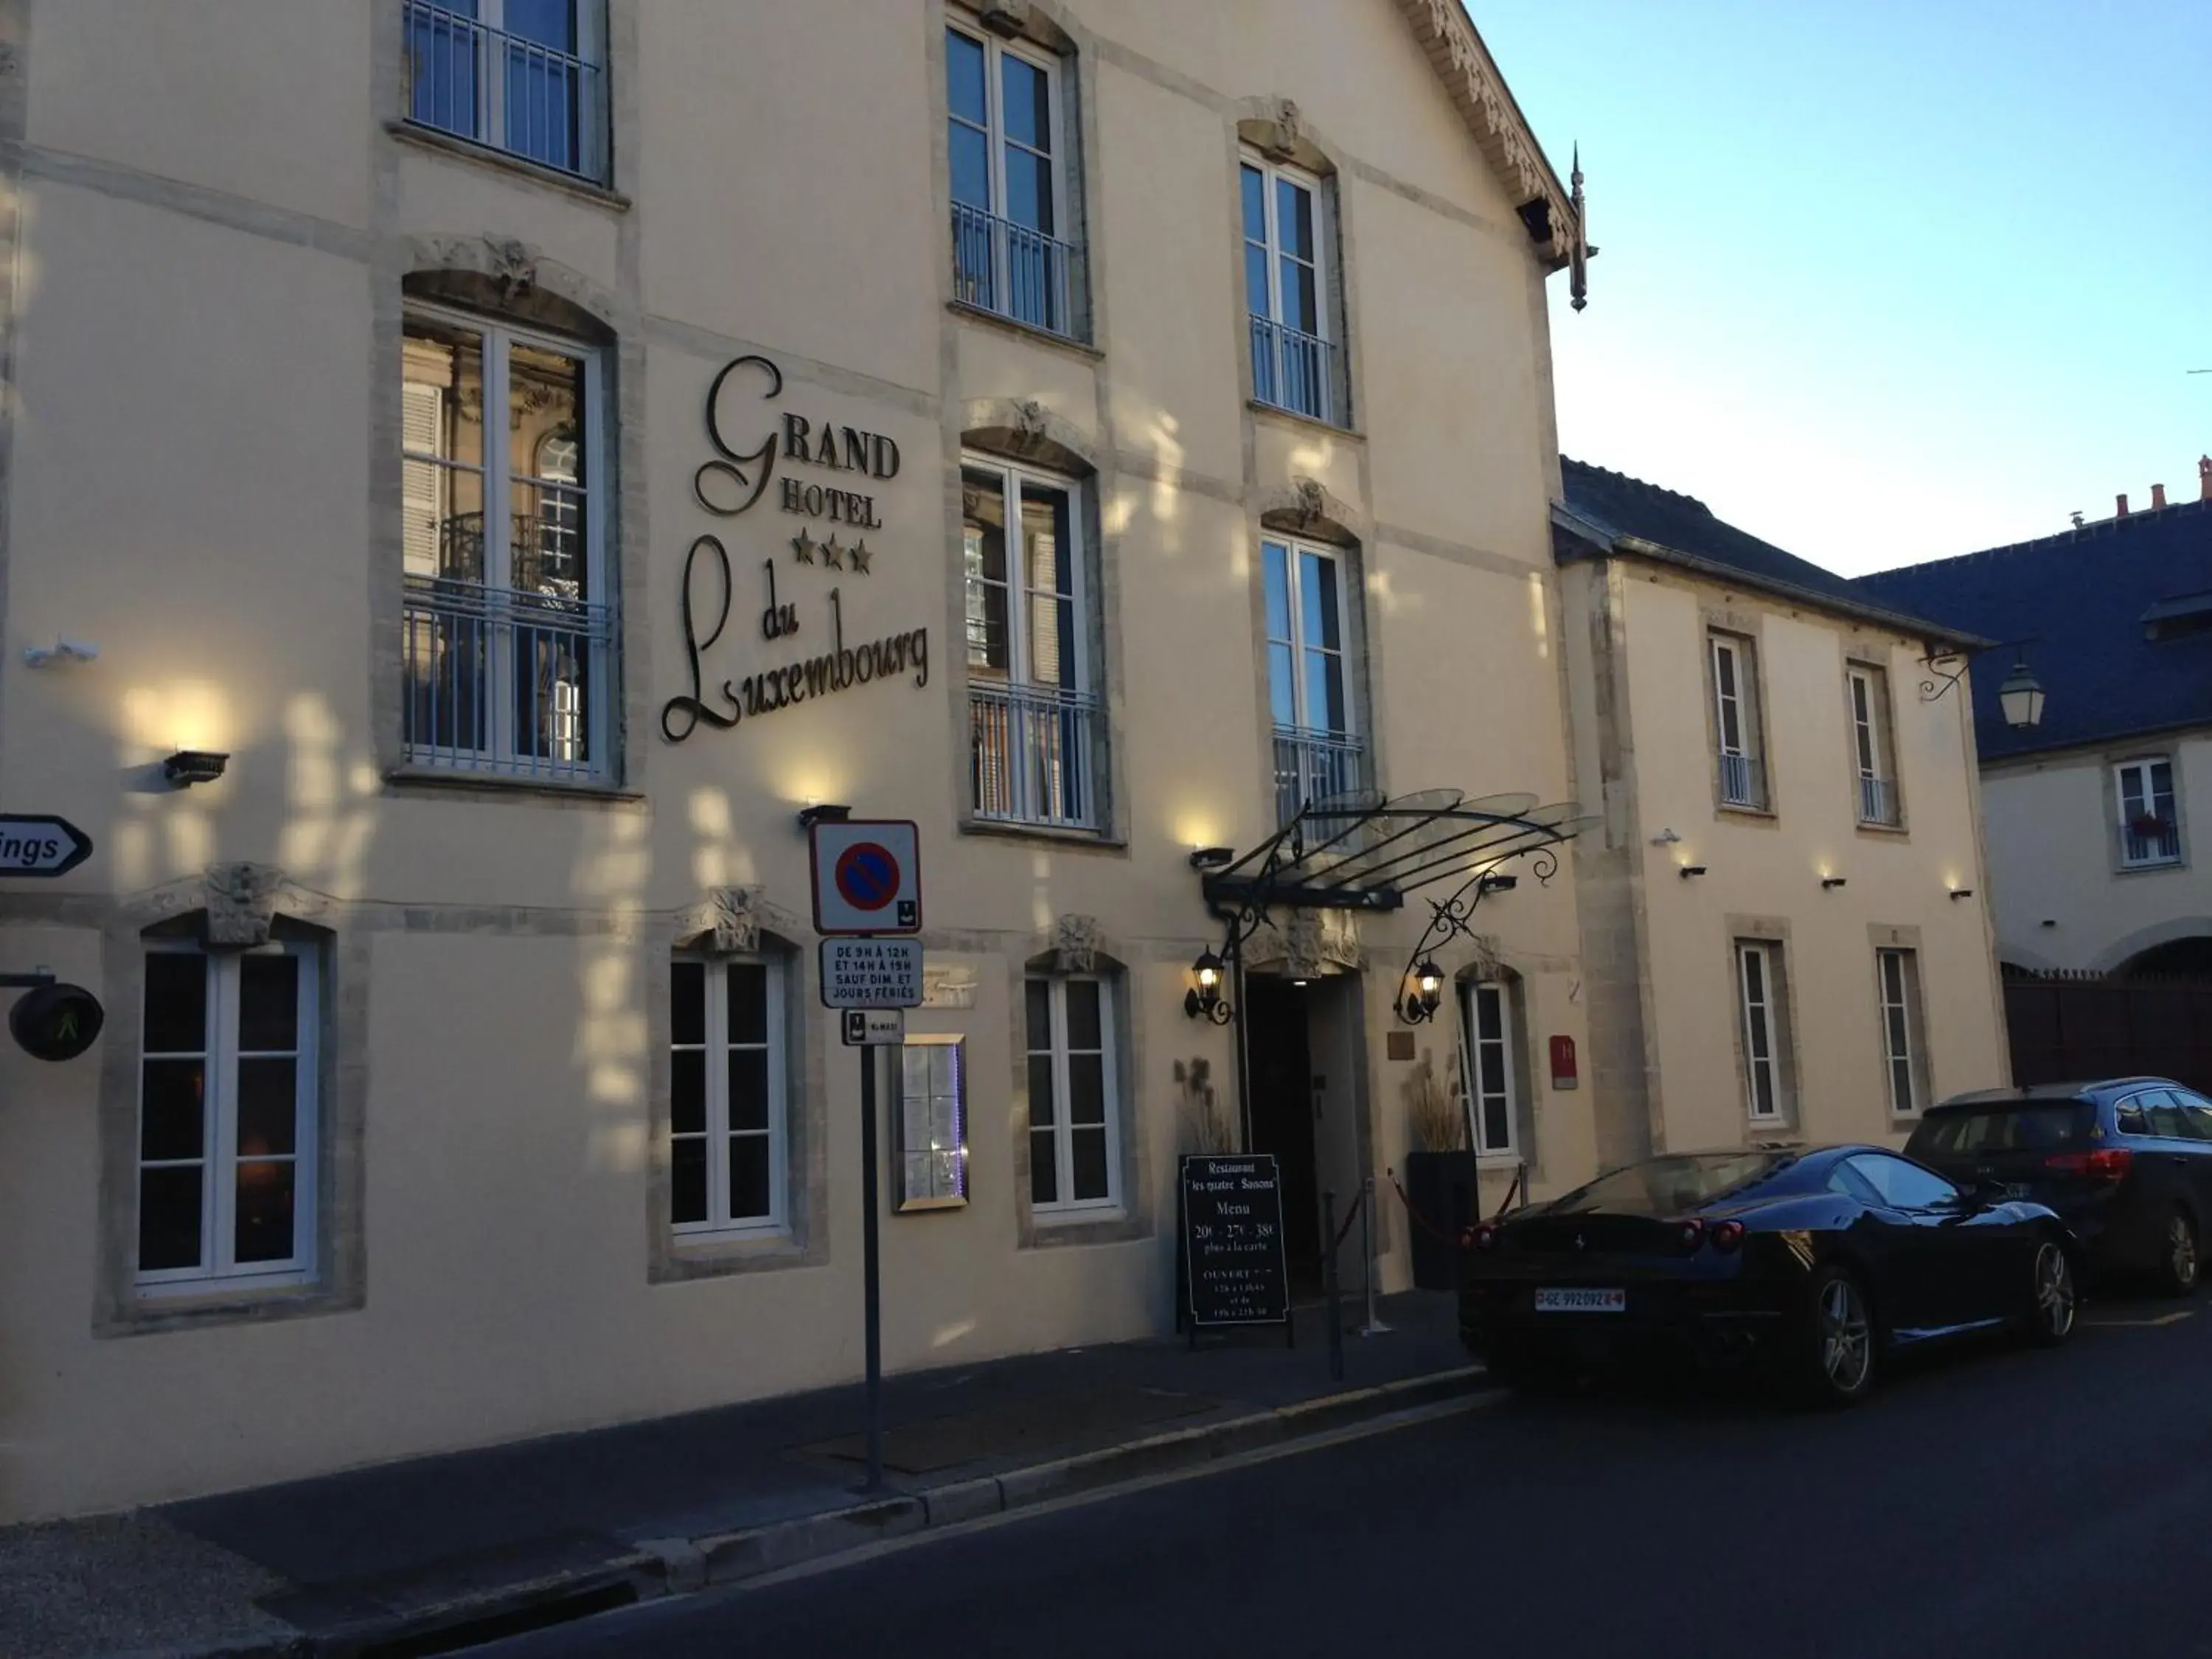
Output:
[[[334,905],[268,865],[212,865],[204,876],[122,900],[102,918],[100,967],[108,1042],[100,1062],[100,1243],[93,1336],[352,1312],[365,1303],[363,1126],[367,1102],[367,938],[338,929]],[[210,1281],[206,1292],[137,1283],[137,1115],[146,936],[195,936],[210,951],[312,933],[321,956],[316,1046],[316,1237],[307,1283]]]

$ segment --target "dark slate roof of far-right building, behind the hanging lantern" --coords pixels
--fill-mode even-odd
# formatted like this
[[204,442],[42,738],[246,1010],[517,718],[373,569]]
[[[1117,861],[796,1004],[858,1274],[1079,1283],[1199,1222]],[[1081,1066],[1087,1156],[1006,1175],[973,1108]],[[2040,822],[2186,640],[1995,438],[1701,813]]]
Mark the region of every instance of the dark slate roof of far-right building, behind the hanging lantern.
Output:
[[1878,571],[1851,586],[1989,639],[2042,635],[2026,648],[2048,692],[2033,732],[2011,730],[1997,712],[2013,653],[1978,664],[1973,726],[1984,761],[2212,723],[2212,633],[2150,639],[2146,626],[2154,606],[2185,615],[2194,606],[2166,602],[2212,588],[2212,502]]

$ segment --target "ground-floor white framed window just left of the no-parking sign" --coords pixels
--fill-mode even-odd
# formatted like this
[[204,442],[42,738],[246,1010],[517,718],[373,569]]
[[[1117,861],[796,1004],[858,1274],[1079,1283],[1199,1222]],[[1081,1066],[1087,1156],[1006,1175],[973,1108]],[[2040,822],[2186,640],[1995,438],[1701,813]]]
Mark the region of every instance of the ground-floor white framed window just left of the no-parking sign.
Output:
[[668,1221],[781,1232],[790,1117],[783,964],[679,956],[668,980]]

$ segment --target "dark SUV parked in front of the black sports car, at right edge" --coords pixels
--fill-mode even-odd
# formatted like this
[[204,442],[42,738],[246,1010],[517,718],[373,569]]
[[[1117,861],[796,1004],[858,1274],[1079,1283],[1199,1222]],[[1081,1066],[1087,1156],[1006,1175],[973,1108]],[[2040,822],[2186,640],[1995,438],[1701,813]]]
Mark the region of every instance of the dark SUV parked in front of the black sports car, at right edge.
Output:
[[1905,1155],[2059,1212],[2095,1267],[2188,1296],[2212,1225],[2212,1099],[2170,1077],[1984,1088],[1931,1106]]

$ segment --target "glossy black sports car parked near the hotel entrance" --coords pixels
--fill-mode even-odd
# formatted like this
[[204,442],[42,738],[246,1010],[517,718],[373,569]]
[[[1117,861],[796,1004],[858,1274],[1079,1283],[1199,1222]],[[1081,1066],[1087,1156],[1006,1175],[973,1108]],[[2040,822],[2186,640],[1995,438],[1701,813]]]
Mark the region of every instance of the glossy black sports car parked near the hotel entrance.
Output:
[[1849,1405],[1900,1347],[2006,1325],[2057,1345],[2079,1312],[2057,1214],[1878,1146],[1652,1157],[1469,1228],[1462,1254],[1460,1336],[1509,1387],[1692,1356]]

